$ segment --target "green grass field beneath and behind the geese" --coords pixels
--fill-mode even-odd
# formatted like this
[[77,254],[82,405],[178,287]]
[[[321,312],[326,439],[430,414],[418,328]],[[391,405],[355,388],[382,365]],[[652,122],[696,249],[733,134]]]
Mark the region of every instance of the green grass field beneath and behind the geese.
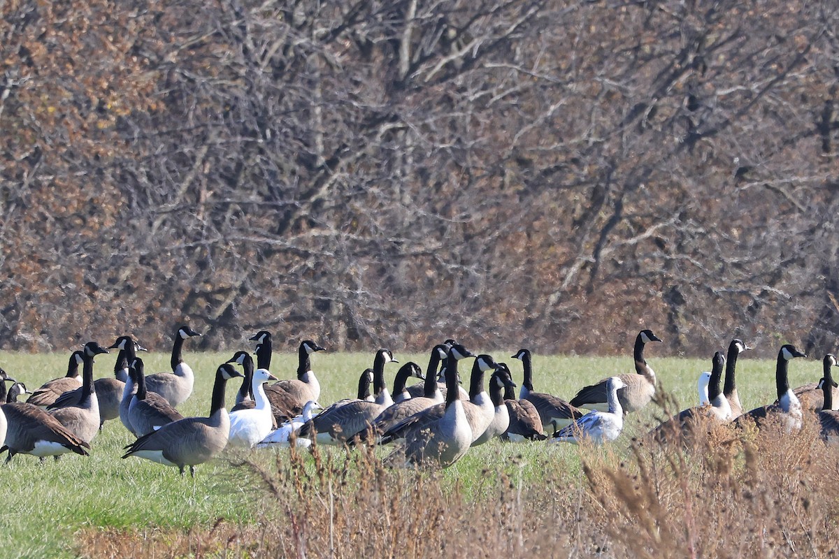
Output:
[[[513,370],[513,380],[521,381],[518,360],[508,359],[518,348],[495,352]],[[664,390],[672,392],[684,406],[696,401],[696,378],[702,370],[710,370],[707,360],[658,358],[658,346],[651,346],[648,360],[659,375]],[[0,353],[0,366],[9,375],[23,380],[30,389],[45,380],[63,375],[67,355],[22,355]],[[232,352],[231,352],[232,355]],[[216,366],[227,360],[227,354],[186,354],[185,360],[196,374],[195,392],[181,406],[184,415],[206,415],[209,409],[211,382]],[[110,375],[113,358],[102,355],[96,360],[95,376]],[[821,357],[821,356],[817,356]],[[426,355],[400,355],[401,362],[414,360],[425,369]],[[146,370],[151,373],[167,370],[167,352],[143,355]],[[352,396],[357,376],[372,366],[369,354],[329,354],[313,356],[312,365],[320,379],[321,404],[341,397]],[[461,366],[461,375],[468,374],[472,360]],[[386,377],[392,381],[399,365],[388,365]],[[274,355],[272,372],[279,378],[294,375],[296,355]],[[548,391],[570,399],[576,390],[604,376],[630,372],[629,357],[564,357],[534,355],[534,385],[537,391]],[[774,400],[774,361],[749,360],[744,354],[738,361],[738,388],[743,406],[750,409]],[[790,365],[790,384],[798,386],[818,380],[821,359],[795,360]],[[232,402],[237,386],[228,386],[227,401]],[[555,483],[561,474],[562,483],[573,484],[574,491],[586,486],[581,468],[581,452],[599,453],[603,463],[620,463],[629,453],[628,440],[633,433],[645,432],[654,422],[654,411],[630,417],[628,437],[612,448],[576,448],[570,445],[545,443],[502,444],[493,441],[472,448],[466,457],[433,479],[443,494],[459,494],[466,499],[495,499],[498,479],[511,479],[511,484],[538,487]],[[88,458],[66,455],[60,461],[39,464],[38,459],[18,455],[3,468],[0,498],[6,504],[0,511],[0,548],[4,557],[73,557],[107,556],[102,551],[102,534],[133,534],[137,541],[157,538],[185,546],[187,551],[158,556],[216,556],[202,552],[192,545],[207,534],[235,532],[241,540],[244,534],[258,534],[258,526],[266,522],[270,506],[265,505],[262,492],[254,489],[255,477],[244,468],[235,468],[227,458],[196,468],[195,479],[181,478],[176,468],[166,468],[139,458],[120,459],[122,446],[133,437],[116,420],[108,422],[92,443]],[[340,450],[330,451],[327,457],[341,461]],[[255,461],[265,468],[288,461],[286,454],[264,451],[255,454]],[[275,462],[279,461],[279,462]],[[341,466],[343,468],[343,466]],[[426,479],[427,480],[427,479]],[[419,482],[418,482],[419,483]],[[513,487],[511,485],[511,487]],[[286,513],[290,514],[288,510]],[[285,513],[284,513],[285,514]],[[273,520],[276,521],[276,520]],[[264,527],[263,527],[264,529]],[[216,531],[216,532],[214,532]],[[203,534],[204,536],[200,536]],[[120,536],[115,536],[120,537]],[[234,538],[235,539],[235,538]],[[92,542],[92,543],[91,543]],[[86,546],[96,547],[94,552]],[[231,556],[255,556],[241,551]],[[91,548],[92,549],[92,548]],[[135,556],[152,556],[142,546],[133,547]],[[209,549],[215,549],[210,547]],[[298,550],[299,551],[299,550]],[[334,550],[333,550],[334,551]],[[117,556],[117,552],[113,552]],[[125,551],[120,551],[124,554]],[[334,552],[332,553],[334,555]],[[289,555],[296,556],[292,546]]]

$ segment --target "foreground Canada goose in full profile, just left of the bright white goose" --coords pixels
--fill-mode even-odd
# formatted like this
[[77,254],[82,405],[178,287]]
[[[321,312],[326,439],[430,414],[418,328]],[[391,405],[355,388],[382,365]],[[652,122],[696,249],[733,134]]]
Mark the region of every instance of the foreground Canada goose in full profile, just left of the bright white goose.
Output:
[[221,453],[230,434],[230,417],[224,407],[227,380],[241,377],[233,365],[224,363],[216,370],[209,417],[186,417],[171,422],[129,444],[122,458],[138,456],[165,466],[177,466],[180,475],[190,467],[195,477],[195,466]]

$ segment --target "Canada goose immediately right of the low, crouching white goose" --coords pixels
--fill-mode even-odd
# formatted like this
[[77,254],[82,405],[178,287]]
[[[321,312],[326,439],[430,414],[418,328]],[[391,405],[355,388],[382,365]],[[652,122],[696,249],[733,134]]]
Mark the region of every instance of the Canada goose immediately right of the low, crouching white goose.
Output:
[[379,349],[373,360],[373,393],[376,401],[353,400],[331,406],[300,427],[300,437],[312,438],[318,444],[344,444],[363,439],[373,421],[386,407],[393,405],[384,382],[385,363],[395,363],[389,349]]

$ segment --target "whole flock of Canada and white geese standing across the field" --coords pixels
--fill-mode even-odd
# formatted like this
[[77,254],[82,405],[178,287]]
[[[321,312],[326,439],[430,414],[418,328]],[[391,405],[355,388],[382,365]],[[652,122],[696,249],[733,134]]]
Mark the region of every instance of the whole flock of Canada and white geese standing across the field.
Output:
[[[311,367],[311,355],[324,348],[312,340],[300,344],[297,376],[278,380],[270,371],[273,352],[271,334],[258,332],[253,355],[237,351],[216,369],[207,417],[184,417],[177,410],[192,393],[195,375],[183,359],[186,339],[201,334],[181,326],[175,333],[171,371],[146,375],[138,352],[145,351],[130,336],[121,336],[107,349],[89,342],[70,355],[65,376],[50,380],[30,392],[0,369],[0,443],[15,454],[32,454],[44,460],[61,454],[87,455],[104,422],[119,419],[136,438],[125,447],[122,458],[139,457],[177,467],[184,475],[189,467],[216,457],[228,447],[272,448],[311,444],[354,446],[360,443],[393,445],[385,462],[393,466],[446,468],[469,448],[493,438],[503,441],[548,440],[551,443],[602,444],[623,431],[623,419],[653,400],[654,370],[644,359],[644,347],[661,340],[649,329],[635,339],[635,373],[611,376],[585,386],[571,399],[534,390],[529,349],[512,356],[520,360],[524,382],[516,384],[505,363],[491,355],[473,355],[454,339],[436,345],[430,352],[425,374],[413,362],[399,367],[388,390],[385,369],[398,364],[389,349],[378,349],[373,367],[359,378],[356,398],[336,401],[324,409],[318,403],[320,383]],[[96,355],[117,349],[112,377],[93,379]],[[737,396],[737,357],[750,349],[733,339],[727,355],[717,352],[711,371],[700,375],[700,405],[681,411],[650,433],[659,442],[682,440],[706,422],[758,428],[777,417],[784,429],[800,429],[805,410],[818,413],[822,436],[839,438],[839,391],[831,368],[836,357],[825,356],[824,376],[819,383],[791,389],[789,361],[803,357],[791,344],[779,350],[776,365],[777,400],[743,412]],[[459,364],[472,358],[466,391],[461,386]],[[79,368],[81,366],[81,374]],[[724,381],[723,381],[724,372]],[[489,376],[488,383],[485,381]],[[241,378],[236,405],[225,407],[227,381]],[[407,386],[410,378],[421,383]],[[8,388],[6,381],[13,384]],[[371,389],[372,386],[372,389]],[[488,390],[488,392],[487,392]],[[18,398],[29,394],[27,401]]]

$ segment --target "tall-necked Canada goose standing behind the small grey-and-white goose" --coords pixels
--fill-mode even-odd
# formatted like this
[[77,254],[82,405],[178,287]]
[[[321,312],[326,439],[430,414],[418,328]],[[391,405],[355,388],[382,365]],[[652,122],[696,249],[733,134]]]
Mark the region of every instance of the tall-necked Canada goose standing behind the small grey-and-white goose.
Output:
[[[637,374],[618,375],[623,381],[623,388],[618,391],[623,413],[638,411],[653,399],[655,394],[655,371],[644,360],[644,345],[660,341],[650,330],[641,330],[635,338],[633,355]],[[582,388],[571,400],[571,406],[605,409],[607,400],[606,380],[603,379],[595,385]]]

